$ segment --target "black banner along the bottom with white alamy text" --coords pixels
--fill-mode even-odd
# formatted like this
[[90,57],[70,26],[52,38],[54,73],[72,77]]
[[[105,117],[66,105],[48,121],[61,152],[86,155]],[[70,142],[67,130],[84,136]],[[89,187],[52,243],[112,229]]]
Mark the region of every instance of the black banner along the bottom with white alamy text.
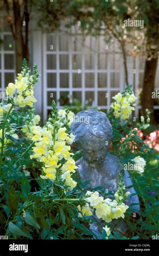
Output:
[[152,255],[159,256],[159,241],[154,240],[0,240],[0,256],[46,255],[48,253],[67,253],[75,255],[78,252],[96,252],[106,255]]

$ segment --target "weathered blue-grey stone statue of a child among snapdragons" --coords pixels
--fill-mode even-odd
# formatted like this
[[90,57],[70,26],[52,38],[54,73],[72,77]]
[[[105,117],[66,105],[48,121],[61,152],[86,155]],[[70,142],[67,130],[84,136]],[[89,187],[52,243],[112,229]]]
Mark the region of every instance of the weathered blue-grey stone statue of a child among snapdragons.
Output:
[[[87,120],[87,122],[86,122]],[[75,144],[78,150],[82,149],[83,157],[76,161],[80,178],[92,188],[102,186],[110,191],[116,192],[118,188],[118,174],[121,167],[118,157],[108,153],[108,142],[113,137],[112,126],[106,114],[87,109],[77,113],[71,124],[71,132],[75,135]],[[132,181],[128,171],[125,171],[123,181],[125,187],[131,186]],[[126,189],[131,194],[136,193],[134,187]],[[133,212],[139,212],[139,198],[137,195],[125,200],[125,204],[138,203],[133,206]]]

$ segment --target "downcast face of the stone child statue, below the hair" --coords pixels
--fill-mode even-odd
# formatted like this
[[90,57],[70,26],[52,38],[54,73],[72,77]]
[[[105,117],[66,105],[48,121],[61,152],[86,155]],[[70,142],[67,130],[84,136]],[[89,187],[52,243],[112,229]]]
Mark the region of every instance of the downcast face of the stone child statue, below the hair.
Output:
[[87,162],[103,162],[108,153],[108,146],[105,145],[106,141],[108,141],[108,138],[84,137],[80,141],[83,158]]

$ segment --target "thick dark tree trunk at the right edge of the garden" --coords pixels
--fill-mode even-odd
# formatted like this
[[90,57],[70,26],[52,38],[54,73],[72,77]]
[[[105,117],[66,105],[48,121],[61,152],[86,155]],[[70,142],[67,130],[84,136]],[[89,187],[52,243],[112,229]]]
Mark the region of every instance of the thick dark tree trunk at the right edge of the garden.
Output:
[[155,76],[157,69],[157,58],[151,59],[150,61],[146,60],[145,73],[144,73],[144,83],[143,83],[143,93],[142,93],[142,111],[143,115],[146,118],[146,109],[152,110],[150,114],[150,123],[155,124],[154,117],[154,99],[152,98],[152,92],[155,89]]

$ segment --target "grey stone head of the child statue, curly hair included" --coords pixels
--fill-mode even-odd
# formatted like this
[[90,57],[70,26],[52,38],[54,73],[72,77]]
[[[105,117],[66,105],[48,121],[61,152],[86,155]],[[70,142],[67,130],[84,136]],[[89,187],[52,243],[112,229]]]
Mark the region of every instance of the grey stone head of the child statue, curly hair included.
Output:
[[108,141],[112,138],[112,126],[104,112],[96,109],[78,112],[71,124],[71,132],[87,162],[104,161],[108,153]]

